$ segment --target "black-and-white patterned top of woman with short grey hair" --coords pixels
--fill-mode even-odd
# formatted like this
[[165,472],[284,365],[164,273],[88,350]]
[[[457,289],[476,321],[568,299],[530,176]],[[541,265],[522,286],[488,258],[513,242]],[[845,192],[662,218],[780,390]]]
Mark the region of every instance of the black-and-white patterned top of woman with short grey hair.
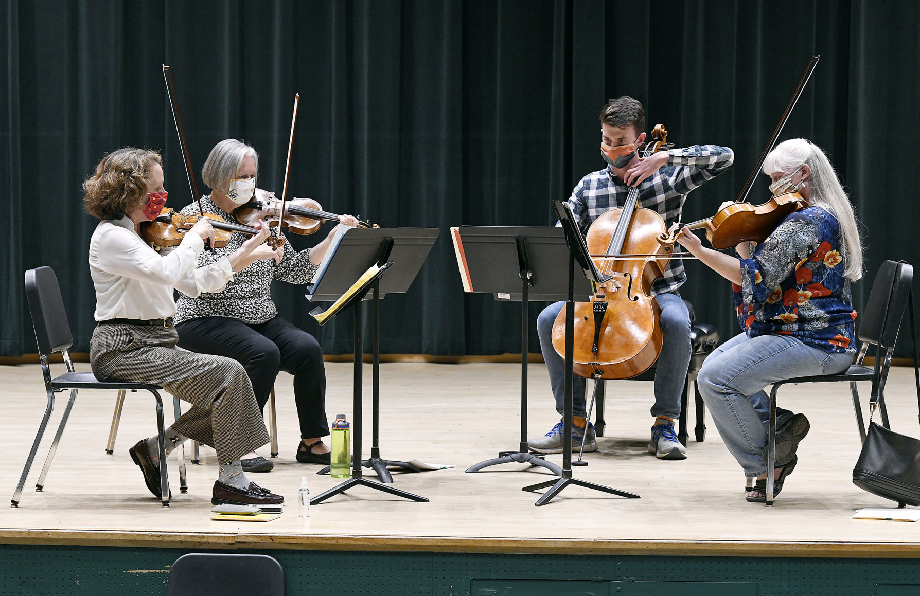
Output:
[[[201,207],[205,212],[215,213],[226,221],[238,224],[236,217],[224,212],[215,205],[210,197],[201,197]],[[198,203],[193,203],[182,210],[187,215],[197,215]],[[202,250],[198,256],[198,266],[210,265],[221,258],[228,257],[243,245],[249,236],[235,232],[227,246]],[[316,265],[310,260],[310,249],[296,251],[290,245],[284,246],[284,257],[275,267],[272,259],[258,260],[242,271],[234,273],[233,280],[227,281],[221,292],[201,292],[197,298],[179,292],[176,301],[174,321],[182,323],[201,316],[228,316],[250,325],[264,323],[275,315],[278,309],[271,301],[271,282],[274,280],[288,283],[306,283],[316,274]]]

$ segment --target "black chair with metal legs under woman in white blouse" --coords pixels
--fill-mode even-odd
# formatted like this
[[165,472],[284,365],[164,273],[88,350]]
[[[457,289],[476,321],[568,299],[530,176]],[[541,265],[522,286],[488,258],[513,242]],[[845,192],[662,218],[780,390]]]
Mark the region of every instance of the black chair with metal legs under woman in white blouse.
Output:
[[[45,393],[48,395],[48,405],[45,407],[45,415],[41,418],[39,431],[35,435],[35,441],[32,443],[32,449],[29,452],[29,459],[22,469],[22,476],[19,476],[19,484],[16,492],[13,494],[11,503],[13,507],[19,506],[19,496],[22,493],[22,487],[26,484],[26,476],[29,475],[29,468],[35,459],[35,453],[39,450],[41,437],[48,426],[48,419],[51,418],[54,408],[54,394],[70,389],[70,400],[63,411],[61,424],[58,426],[57,434],[54,435],[52,448],[45,459],[44,467],[41,469],[39,481],[35,489],[40,491],[45,484],[45,476],[48,475],[48,469],[52,465],[54,453],[57,452],[58,442],[61,441],[63,427],[67,424],[67,418],[74,407],[77,391],[80,389],[119,389],[137,391],[138,389],[149,391],[156,399],[156,430],[160,442],[160,486],[168,487],[167,466],[166,466],[166,441],[163,437],[163,400],[158,391],[163,387],[155,384],[146,383],[129,383],[129,382],[104,382],[99,381],[92,372],[76,372],[74,362],[71,361],[68,349],[73,345],[74,338],[70,333],[70,323],[67,320],[67,314],[63,308],[63,298],[61,297],[61,287],[58,285],[57,276],[50,267],[40,267],[38,269],[29,269],[26,271],[26,297],[29,299],[29,313],[32,315],[32,327],[35,327],[35,340],[39,346],[39,356],[41,359],[41,372],[45,380]],[[49,356],[52,353],[60,351],[67,372],[62,375],[53,377],[51,366],[48,363]],[[178,416],[178,398],[174,399]],[[186,492],[185,461],[179,454],[179,478],[182,492]],[[163,507],[169,506],[169,491],[163,490]]]

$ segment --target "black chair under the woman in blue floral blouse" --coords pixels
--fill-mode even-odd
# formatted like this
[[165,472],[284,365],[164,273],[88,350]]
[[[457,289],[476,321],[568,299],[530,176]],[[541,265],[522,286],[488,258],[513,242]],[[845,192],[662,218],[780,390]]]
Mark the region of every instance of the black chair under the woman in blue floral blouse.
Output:
[[[885,407],[885,381],[891,368],[891,355],[898,340],[898,330],[908,298],[911,296],[911,283],[914,280],[914,268],[903,261],[885,261],[872,281],[872,291],[868,302],[859,317],[857,337],[862,342],[855,364],[840,374],[796,377],[773,384],[770,391],[770,430],[767,445],[766,463],[766,501],[773,505],[773,476],[776,471],[776,392],[784,384],[799,383],[849,383],[853,394],[853,409],[857,415],[857,426],[861,441],[866,441],[866,426],[863,422],[862,407],[859,405],[857,381],[871,381],[872,395],[879,396],[882,424],[889,427],[888,410]],[[913,309],[912,309],[913,315]],[[913,325],[913,320],[911,321]],[[868,347],[874,345],[875,366],[863,366]]]

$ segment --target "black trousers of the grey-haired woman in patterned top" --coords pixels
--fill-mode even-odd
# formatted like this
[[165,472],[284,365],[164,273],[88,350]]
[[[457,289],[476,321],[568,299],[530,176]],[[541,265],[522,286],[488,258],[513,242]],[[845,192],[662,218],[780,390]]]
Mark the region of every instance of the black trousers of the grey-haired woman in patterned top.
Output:
[[227,316],[202,316],[176,329],[180,348],[227,356],[242,364],[259,408],[268,403],[278,372],[293,374],[301,439],[329,434],[323,350],[309,333],[277,315],[257,325]]

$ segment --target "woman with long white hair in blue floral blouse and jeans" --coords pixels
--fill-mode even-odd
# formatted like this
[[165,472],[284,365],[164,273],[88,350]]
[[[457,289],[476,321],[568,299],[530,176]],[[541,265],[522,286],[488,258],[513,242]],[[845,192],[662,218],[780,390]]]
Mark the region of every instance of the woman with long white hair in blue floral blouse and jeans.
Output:
[[[774,195],[798,191],[810,207],[793,212],[753,252],[738,256],[702,246],[684,228],[688,251],[731,281],[743,329],[715,350],[697,378],[719,434],[745,476],[757,481],[747,500],[766,499],[768,384],[843,372],[856,352],[850,282],[862,277],[853,206],[834,166],[805,139],[779,143],[764,162]],[[753,244],[753,243],[752,243]],[[798,463],[808,418],[776,410],[775,493]]]

